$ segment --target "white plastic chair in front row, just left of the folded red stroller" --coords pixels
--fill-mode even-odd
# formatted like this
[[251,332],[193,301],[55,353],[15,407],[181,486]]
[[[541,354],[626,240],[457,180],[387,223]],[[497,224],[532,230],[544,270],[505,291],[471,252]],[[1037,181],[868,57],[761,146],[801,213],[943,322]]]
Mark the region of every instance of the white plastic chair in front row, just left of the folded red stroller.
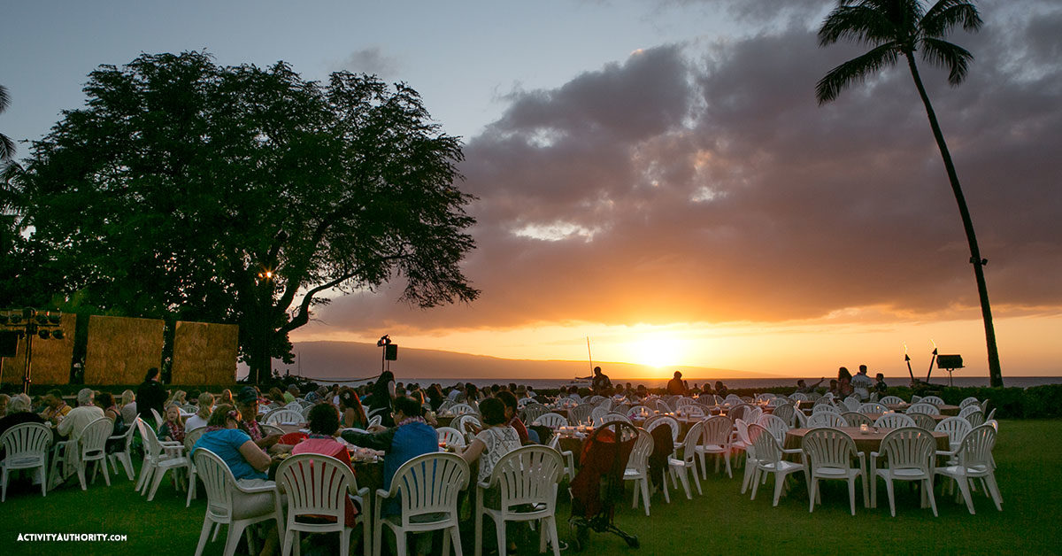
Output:
[[[507,546],[506,522],[539,522],[538,552],[546,542],[553,545],[553,556],[561,556],[556,535],[556,484],[564,462],[556,451],[527,445],[501,456],[486,482],[476,485],[476,556],[483,551],[483,518],[490,517],[498,535],[498,546]],[[485,505],[486,490],[497,488],[498,507]],[[499,552],[501,552],[499,550]]]

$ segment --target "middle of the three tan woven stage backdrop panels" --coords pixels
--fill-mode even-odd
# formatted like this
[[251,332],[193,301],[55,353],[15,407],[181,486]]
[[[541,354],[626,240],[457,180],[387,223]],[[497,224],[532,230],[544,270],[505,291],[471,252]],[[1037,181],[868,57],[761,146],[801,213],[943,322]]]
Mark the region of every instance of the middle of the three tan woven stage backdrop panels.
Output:
[[162,326],[158,319],[90,317],[85,384],[142,383],[148,369],[161,364]]

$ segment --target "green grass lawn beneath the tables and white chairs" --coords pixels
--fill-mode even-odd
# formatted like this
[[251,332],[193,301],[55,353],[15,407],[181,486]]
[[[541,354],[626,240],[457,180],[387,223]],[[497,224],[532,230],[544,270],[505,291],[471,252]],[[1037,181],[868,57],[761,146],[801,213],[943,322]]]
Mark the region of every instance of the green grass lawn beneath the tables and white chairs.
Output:
[[[995,456],[1004,511],[996,511],[981,492],[975,493],[977,515],[941,492],[940,517],[919,508],[918,493],[897,489],[896,517],[889,516],[885,488],[878,482],[878,508],[849,513],[843,483],[825,483],[822,506],[807,511],[807,490],[796,483],[778,507],[771,507],[773,478],[755,501],[740,494],[740,471],[733,479],[709,474],[704,495],[685,500],[672,490],[671,504],[656,494],[652,516],[631,509],[630,499],[618,508],[616,523],[638,536],[641,547],[630,549],[618,537],[590,534],[584,554],[1060,554],[1062,553],[1062,421],[1003,421]],[[205,499],[185,508],[185,492],[167,481],[153,502],[137,495],[122,474],[101,479],[83,492],[73,483],[41,498],[24,482],[8,488],[0,519],[0,553],[6,554],[192,554],[203,523]],[[858,488],[857,488],[858,490]],[[202,492],[202,490],[201,490]],[[628,487],[630,493],[630,487]],[[562,495],[559,511],[562,540],[568,538],[569,506]],[[472,524],[466,523],[464,553],[473,554]],[[490,530],[490,529],[487,529]],[[19,542],[19,533],[125,534],[125,542]],[[384,533],[387,535],[387,533]],[[208,543],[206,554],[221,554],[223,535]],[[534,554],[521,546],[519,554]],[[568,553],[571,553],[569,550]]]

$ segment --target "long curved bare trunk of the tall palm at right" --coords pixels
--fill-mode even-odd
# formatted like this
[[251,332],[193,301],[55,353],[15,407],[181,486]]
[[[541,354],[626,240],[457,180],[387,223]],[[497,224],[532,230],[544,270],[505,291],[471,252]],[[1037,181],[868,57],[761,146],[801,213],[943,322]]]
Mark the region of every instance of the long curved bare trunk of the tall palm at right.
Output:
[[911,77],[914,78],[914,85],[922,97],[922,103],[926,107],[926,116],[929,117],[929,127],[932,128],[932,136],[937,139],[937,147],[940,148],[941,158],[944,159],[944,169],[947,170],[947,180],[952,183],[952,192],[955,193],[955,201],[959,204],[959,215],[962,217],[962,228],[966,231],[966,242],[970,243],[970,263],[974,265],[974,275],[977,277],[977,293],[981,301],[981,317],[984,320],[984,340],[989,351],[989,377],[993,388],[1003,386],[1003,371],[999,368],[999,351],[995,342],[995,327],[992,325],[992,307],[989,305],[989,289],[984,283],[984,265],[988,259],[981,258],[980,249],[977,248],[977,236],[974,234],[974,222],[970,218],[970,209],[966,208],[966,198],[962,195],[962,186],[959,185],[959,175],[955,172],[955,165],[952,163],[952,154],[944,142],[944,133],[940,131],[940,123],[937,121],[937,113],[929,103],[929,96],[925,86],[922,85],[922,78],[919,77],[919,68],[914,64],[913,52],[905,52],[907,65],[911,69]]

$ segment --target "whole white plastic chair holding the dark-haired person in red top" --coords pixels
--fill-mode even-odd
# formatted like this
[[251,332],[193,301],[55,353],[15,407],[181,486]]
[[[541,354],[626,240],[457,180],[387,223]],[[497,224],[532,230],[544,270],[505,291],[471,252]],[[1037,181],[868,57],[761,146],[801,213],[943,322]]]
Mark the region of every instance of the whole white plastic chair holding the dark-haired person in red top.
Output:
[[[358,503],[362,507],[361,522],[362,545],[364,554],[372,552],[369,527],[372,523],[369,516],[369,504],[362,503],[369,496],[369,488],[358,489],[354,471],[335,457],[321,454],[298,454],[280,462],[276,469],[276,486],[278,492],[286,494],[287,516],[284,525],[282,554],[288,556],[292,546],[298,553],[301,533],[339,533],[339,553],[350,554],[350,533],[354,527],[346,526],[346,500],[348,494],[358,494]],[[277,515],[281,515],[279,510]],[[330,518],[299,521],[304,516]],[[335,521],[332,521],[335,520]],[[319,521],[327,521],[321,523]]]

